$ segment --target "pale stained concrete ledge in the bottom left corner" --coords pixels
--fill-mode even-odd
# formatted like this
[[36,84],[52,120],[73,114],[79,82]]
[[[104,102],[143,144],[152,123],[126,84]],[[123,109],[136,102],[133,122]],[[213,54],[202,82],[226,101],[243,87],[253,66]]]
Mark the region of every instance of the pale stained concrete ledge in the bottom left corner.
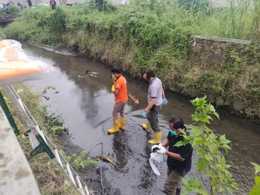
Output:
[[33,172],[0,106],[0,195],[40,195]]

